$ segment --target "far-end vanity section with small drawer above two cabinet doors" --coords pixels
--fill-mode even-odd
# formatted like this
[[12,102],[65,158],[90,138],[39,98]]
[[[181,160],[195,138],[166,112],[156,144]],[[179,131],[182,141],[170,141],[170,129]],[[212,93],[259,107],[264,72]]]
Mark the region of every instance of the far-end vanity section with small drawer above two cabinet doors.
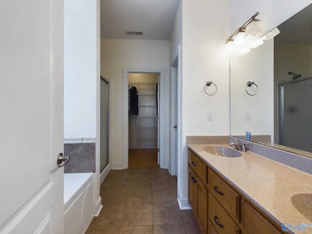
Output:
[[208,166],[195,154],[188,154],[188,202],[202,234],[207,234]]

